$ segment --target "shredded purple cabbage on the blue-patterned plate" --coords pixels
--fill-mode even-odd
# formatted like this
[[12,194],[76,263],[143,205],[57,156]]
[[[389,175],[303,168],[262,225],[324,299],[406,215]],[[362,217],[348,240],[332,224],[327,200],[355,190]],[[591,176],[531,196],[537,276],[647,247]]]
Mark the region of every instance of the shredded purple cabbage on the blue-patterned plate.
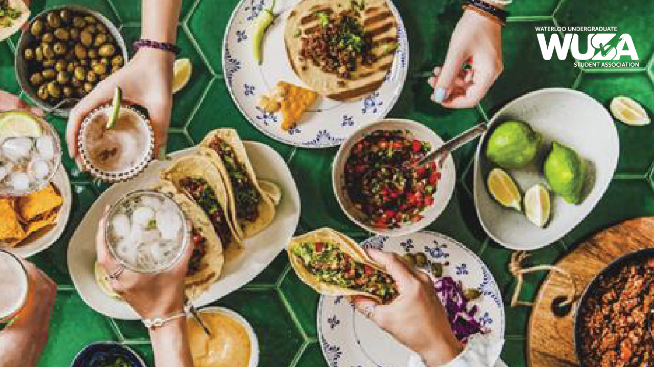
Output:
[[434,286],[438,297],[445,306],[445,310],[447,310],[447,318],[452,327],[452,332],[459,342],[466,344],[471,335],[486,334],[490,331],[475,320],[475,313],[478,311],[477,306],[472,306],[468,310],[470,302],[464,296],[460,282],[445,276],[436,279]]

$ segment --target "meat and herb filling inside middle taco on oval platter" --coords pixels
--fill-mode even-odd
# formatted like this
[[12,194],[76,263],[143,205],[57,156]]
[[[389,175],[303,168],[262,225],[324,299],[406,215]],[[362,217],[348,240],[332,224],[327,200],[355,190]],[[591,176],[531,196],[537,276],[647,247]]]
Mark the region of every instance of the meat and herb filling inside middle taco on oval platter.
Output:
[[[227,246],[232,242],[232,230],[225,216],[216,193],[213,191],[207,180],[203,178],[182,178],[179,182],[182,189],[191,195],[200,208],[209,216],[211,224],[220,238],[220,242]],[[195,237],[195,236],[194,236]]]

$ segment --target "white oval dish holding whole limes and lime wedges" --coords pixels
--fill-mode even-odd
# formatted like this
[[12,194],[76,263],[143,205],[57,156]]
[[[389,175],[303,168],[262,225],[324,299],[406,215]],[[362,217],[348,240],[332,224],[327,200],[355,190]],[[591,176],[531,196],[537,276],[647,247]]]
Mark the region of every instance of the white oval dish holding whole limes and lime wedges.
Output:
[[[521,193],[543,183],[542,163],[551,142],[576,150],[587,165],[587,177],[580,205],[568,204],[560,195],[550,193],[551,219],[542,229],[523,213],[500,206],[490,197],[486,180],[494,167],[483,152],[485,142],[498,123],[519,120],[543,135],[542,152],[532,165],[507,170]],[[534,91],[512,101],[490,120],[490,131],[479,140],[475,157],[473,195],[479,220],[489,236],[504,247],[530,250],[556,242],[576,227],[593,210],[613,178],[619,155],[615,123],[602,104],[589,95],[565,88]]]

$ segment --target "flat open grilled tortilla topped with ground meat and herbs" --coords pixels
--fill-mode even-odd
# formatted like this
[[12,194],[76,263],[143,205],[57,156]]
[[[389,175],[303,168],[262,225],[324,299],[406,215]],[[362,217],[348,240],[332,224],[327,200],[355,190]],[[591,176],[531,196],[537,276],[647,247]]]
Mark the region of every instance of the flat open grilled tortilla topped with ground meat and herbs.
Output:
[[284,29],[288,61],[324,97],[358,101],[377,90],[398,48],[387,0],[303,0]]

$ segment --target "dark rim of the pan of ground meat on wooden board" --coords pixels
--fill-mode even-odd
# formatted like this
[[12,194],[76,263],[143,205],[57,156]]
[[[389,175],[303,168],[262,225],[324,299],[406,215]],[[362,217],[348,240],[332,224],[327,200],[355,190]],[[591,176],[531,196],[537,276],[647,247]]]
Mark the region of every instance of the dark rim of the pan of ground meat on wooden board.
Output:
[[574,343],[575,343],[575,350],[577,353],[577,359],[579,360],[580,367],[587,366],[587,364],[584,361],[583,351],[581,350],[581,330],[583,330],[583,328],[585,327],[583,320],[581,319],[581,310],[583,310],[584,306],[587,304],[588,299],[597,293],[600,281],[602,281],[602,279],[611,278],[611,276],[615,276],[615,274],[618,274],[620,270],[622,270],[622,268],[624,268],[630,263],[633,263],[634,261],[651,259],[653,257],[654,257],[654,248],[642,249],[642,250],[627,253],[626,255],[623,255],[622,257],[619,257],[612,263],[608,264],[608,266],[606,266],[606,268],[604,268],[601,272],[599,272],[599,274],[595,276],[593,281],[591,281],[591,283],[587,285],[585,291],[583,291],[583,294],[579,299],[579,303],[577,304],[577,311],[576,311],[575,323],[574,323]]

